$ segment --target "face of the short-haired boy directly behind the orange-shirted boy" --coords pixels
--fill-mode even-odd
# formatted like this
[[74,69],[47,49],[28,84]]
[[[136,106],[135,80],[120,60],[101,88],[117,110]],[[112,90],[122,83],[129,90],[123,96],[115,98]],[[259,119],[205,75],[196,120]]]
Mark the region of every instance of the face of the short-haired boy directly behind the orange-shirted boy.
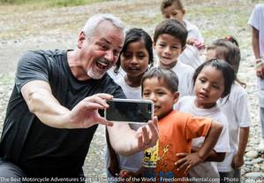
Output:
[[161,34],[154,43],[154,47],[160,65],[170,68],[177,63],[177,57],[183,50],[180,40],[170,34]]

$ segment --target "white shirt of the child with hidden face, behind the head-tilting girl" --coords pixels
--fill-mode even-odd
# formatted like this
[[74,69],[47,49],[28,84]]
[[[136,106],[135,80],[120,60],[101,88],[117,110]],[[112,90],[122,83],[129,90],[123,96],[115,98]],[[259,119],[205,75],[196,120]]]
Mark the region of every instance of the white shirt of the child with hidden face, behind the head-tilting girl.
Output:
[[230,172],[233,157],[238,153],[239,128],[251,126],[245,88],[233,84],[229,99],[227,96],[218,101],[223,113],[228,118],[230,134],[230,152],[226,153],[223,162],[217,163],[219,172]]

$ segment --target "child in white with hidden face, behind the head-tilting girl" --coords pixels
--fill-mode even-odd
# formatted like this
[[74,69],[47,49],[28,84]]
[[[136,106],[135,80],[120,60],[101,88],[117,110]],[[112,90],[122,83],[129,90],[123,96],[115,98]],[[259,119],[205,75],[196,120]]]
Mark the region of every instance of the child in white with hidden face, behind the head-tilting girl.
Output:
[[[213,42],[207,48],[207,58],[213,57],[221,58],[232,65],[237,76],[240,63],[240,50],[238,42],[234,37],[227,36],[225,39]],[[244,164],[249,126],[251,126],[251,119],[247,108],[247,96],[244,88],[245,83],[238,80],[238,78],[236,80],[237,83],[233,83],[228,100],[225,97],[218,101],[221,110],[228,119],[230,131],[230,152],[226,154],[223,162],[218,164],[218,171],[222,180],[224,178],[225,180],[232,178],[232,182],[240,182],[239,168]]]

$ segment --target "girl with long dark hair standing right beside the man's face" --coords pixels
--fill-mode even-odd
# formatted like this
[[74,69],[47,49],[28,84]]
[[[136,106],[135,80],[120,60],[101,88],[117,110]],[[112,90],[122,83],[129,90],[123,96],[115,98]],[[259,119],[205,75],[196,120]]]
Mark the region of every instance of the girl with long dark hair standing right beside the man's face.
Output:
[[[153,48],[150,35],[139,28],[128,30],[124,38],[123,50],[121,50],[120,57],[117,60],[116,68],[118,71],[121,65],[122,70],[125,72],[124,78],[116,82],[123,89],[127,98],[141,98],[141,78],[152,64]],[[130,124],[130,126],[135,130],[140,127],[140,125],[135,124]],[[119,173],[119,170],[137,172],[141,167],[143,152],[136,153],[132,156],[113,156],[117,157],[117,171],[109,170],[112,172],[112,175],[114,175],[113,173]],[[109,177],[111,176],[109,175]]]

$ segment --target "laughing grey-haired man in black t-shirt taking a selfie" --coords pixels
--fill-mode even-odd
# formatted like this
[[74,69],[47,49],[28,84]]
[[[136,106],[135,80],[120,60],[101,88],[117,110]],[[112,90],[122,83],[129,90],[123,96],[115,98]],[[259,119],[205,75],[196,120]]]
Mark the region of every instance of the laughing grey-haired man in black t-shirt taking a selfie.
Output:
[[106,100],[125,97],[106,74],[123,43],[123,23],[98,14],[79,33],[76,50],[35,50],[21,57],[0,142],[0,177],[84,182],[82,165],[98,124],[108,126],[117,153],[155,145],[153,121],[135,132],[98,113],[109,107]]

